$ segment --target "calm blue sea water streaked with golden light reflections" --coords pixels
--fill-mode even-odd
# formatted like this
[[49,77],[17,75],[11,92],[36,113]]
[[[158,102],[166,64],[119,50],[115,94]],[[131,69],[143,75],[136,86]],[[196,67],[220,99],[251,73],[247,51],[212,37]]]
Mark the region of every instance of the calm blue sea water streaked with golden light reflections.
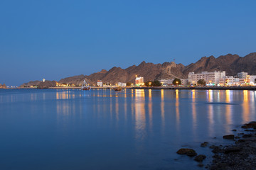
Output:
[[[227,143],[255,91],[0,90],[0,169],[201,169],[181,147]],[[214,138],[216,137],[216,139]]]

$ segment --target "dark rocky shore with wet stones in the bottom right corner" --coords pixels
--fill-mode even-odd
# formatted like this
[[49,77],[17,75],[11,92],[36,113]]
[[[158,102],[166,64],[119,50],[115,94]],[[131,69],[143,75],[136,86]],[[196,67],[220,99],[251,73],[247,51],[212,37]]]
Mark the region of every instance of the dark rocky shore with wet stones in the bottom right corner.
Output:
[[[230,145],[210,145],[212,149],[213,160],[210,164],[204,165],[203,160],[206,155],[197,154],[195,150],[188,148],[178,149],[177,154],[186,154],[188,157],[194,157],[198,166],[205,166],[210,170],[251,170],[256,169],[256,122],[250,122],[242,125],[245,132],[237,135],[224,135],[224,140],[233,140]],[[237,130],[232,130],[236,132]],[[208,147],[208,142],[203,142],[201,147]]]

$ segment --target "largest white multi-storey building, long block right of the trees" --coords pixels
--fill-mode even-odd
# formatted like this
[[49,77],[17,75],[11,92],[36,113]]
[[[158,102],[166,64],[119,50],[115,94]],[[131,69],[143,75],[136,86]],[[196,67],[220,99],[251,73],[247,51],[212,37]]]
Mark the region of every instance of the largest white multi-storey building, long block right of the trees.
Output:
[[190,82],[190,84],[197,84],[199,79],[204,79],[206,81],[206,84],[217,85],[219,84],[220,79],[224,77],[225,77],[225,71],[201,72],[198,74],[195,74],[194,72],[190,72],[188,73],[188,82]]

